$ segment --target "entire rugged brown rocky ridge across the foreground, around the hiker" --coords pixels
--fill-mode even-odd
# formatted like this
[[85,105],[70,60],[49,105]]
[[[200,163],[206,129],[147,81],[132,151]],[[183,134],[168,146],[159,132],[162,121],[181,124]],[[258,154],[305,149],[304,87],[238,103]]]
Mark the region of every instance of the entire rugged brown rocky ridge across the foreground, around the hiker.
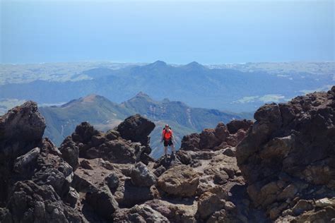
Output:
[[83,122],[57,148],[35,102],[0,118],[0,222],[331,222],[335,87],[185,135],[154,160],[154,123]]

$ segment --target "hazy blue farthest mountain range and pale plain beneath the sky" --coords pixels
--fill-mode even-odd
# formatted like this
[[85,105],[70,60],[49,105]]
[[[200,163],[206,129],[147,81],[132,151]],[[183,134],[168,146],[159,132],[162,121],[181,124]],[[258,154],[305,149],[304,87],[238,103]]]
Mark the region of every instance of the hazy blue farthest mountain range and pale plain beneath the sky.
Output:
[[[35,100],[43,104],[96,94],[121,103],[142,91],[154,100],[169,98],[187,102],[192,107],[240,112],[254,111],[264,102],[285,102],[303,93],[328,90],[335,84],[331,62],[239,66],[203,66],[192,62],[177,66],[155,61],[129,66],[91,64],[81,68],[76,65],[69,71],[65,71],[69,65],[58,66],[48,64],[47,68],[29,69],[18,66],[18,70],[16,66],[6,66],[7,78],[0,85],[1,98]],[[45,78],[44,72],[47,73]],[[29,73],[29,78],[39,73],[39,78],[27,82],[25,73]]]

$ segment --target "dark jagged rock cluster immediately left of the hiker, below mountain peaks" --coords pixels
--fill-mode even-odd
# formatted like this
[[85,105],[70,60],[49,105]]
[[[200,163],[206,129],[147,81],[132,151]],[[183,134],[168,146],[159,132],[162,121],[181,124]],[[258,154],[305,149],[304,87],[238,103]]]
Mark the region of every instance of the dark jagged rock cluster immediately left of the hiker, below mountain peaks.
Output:
[[[151,149],[148,146],[150,140],[148,134],[154,127],[153,122],[139,115],[130,116],[120,123],[117,129],[121,133],[116,130],[102,133],[93,128],[90,123],[83,122],[64,140],[59,150],[62,152],[62,157],[74,169],[78,167],[78,157],[103,158],[110,162],[124,164],[141,160],[148,164],[149,161],[153,161],[149,157]],[[139,138],[146,140],[141,141]]]

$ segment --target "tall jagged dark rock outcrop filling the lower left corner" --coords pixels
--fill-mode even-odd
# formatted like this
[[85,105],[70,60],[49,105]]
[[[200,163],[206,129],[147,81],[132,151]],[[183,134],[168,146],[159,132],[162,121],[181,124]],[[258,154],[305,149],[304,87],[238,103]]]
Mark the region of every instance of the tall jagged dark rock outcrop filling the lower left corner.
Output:
[[0,117],[0,222],[84,222],[66,200],[73,171],[47,138],[35,102]]

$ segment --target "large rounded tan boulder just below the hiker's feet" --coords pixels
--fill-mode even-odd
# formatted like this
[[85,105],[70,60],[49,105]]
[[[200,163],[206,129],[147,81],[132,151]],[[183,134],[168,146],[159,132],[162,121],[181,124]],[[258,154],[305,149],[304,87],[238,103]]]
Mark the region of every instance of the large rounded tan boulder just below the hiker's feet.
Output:
[[170,195],[192,196],[199,185],[199,175],[187,165],[178,165],[165,171],[158,178],[158,188]]

